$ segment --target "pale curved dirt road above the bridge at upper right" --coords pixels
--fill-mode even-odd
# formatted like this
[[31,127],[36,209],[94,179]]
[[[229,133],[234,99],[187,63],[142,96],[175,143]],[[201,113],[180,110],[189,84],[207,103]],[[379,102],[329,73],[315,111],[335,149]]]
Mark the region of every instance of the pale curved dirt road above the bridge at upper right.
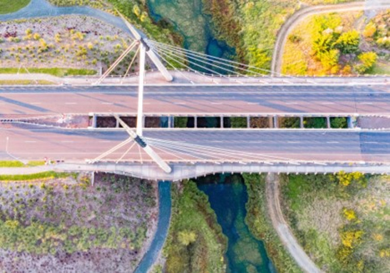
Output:
[[[358,11],[364,9],[385,9],[390,8],[389,0],[351,2],[337,5],[318,5],[305,7],[295,12],[282,25],[276,38],[274,52],[272,55],[271,71],[280,73],[282,70],[283,53],[286,45],[286,39],[290,31],[306,17],[314,14],[328,12]],[[278,75],[278,74],[277,74]]]

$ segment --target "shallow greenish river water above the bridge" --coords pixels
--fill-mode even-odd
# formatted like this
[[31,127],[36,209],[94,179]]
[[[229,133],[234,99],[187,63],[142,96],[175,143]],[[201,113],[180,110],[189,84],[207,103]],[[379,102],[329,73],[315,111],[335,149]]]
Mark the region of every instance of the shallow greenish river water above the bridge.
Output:
[[210,17],[203,13],[202,0],[147,0],[152,18],[164,19],[184,37],[184,47],[216,57],[235,55],[234,48],[217,41]]

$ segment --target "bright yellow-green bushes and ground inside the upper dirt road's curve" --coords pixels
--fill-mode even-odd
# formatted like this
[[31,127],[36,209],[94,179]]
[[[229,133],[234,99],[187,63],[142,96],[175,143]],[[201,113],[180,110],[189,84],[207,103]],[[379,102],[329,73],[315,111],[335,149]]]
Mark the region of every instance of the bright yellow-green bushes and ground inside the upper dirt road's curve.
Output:
[[293,75],[387,73],[390,10],[366,21],[363,12],[315,15],[288,36],[282,72]]

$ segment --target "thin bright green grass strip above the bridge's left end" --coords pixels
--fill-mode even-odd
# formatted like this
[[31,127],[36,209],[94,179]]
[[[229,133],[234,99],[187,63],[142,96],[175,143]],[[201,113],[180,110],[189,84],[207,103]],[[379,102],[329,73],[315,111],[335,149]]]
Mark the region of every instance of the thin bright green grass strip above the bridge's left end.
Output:
[[[44,73],[57,77],[70,75],[95,75],[96,70],[93,69],[77,69],[77,68],[27,68],[30,73]],[[26,69],[19,68],[0,68],[1,74],[27,73]]]

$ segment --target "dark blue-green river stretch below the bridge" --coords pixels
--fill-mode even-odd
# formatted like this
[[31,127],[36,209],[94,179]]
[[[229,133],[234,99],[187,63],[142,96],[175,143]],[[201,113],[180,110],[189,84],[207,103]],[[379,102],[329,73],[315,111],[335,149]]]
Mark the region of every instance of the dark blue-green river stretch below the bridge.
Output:
[[240,175],[213,175],[197,180],[198,188],[208,195],[223,233],[228,237],[228,273],[273,273],[264,245],[253,237],[244,220],[248,202],[246,186]]

